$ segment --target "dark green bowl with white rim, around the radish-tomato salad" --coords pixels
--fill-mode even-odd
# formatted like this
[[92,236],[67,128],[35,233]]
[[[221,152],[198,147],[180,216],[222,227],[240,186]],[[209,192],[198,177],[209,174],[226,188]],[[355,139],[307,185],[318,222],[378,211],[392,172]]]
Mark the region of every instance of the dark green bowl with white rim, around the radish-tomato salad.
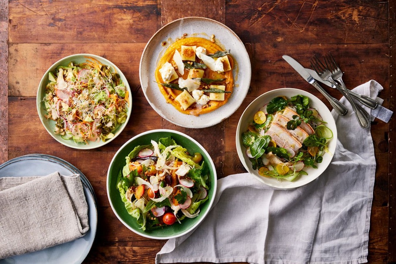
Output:
[[[135,146],[150,144],[151,140],[158,142],[160,138],[169,137],[176,141],[177,144],[187,149],[189,153],[199,152],[202,154],[202,160],[209,167],[210,186],[208,190],[208,200],[200,206],[200,213],[195,218],[185,218],[181,224],[176,222],[169,226],[163,226],[154,230],[141,230],[141,226],[137,224],[136,219],[128,214],[125,209],[124,202],[121,200],[120,192],[117,189],[117,177],[122,168],[126,164],[125,157]],[[194,230],[208,215],[213,201],[215,199],[217,189],[217,174],[213,160],[204,147],[193,138],[185,135],[179,131],[169,129],[155,129],[143,132],[135,137],[129,139],[112,158],[109,170],[107,171],[107,197],[109,198],[110,206],[116,217],[131,231],[136,234],[152,238],[152,239],[170,239],[174,237],[183,236],[188,232]]]

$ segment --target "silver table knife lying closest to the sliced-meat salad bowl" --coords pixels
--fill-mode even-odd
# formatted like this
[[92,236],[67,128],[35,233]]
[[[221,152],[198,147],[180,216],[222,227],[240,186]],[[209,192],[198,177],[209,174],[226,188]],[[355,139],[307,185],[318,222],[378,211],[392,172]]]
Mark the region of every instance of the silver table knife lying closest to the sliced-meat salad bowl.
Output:
[[299,64],[295,59],[287,55],[283,55],[282,58],[287,63],[289,63],[290,66],[292,66],[293,69],[296,72],[298,72],[301,75],[301,77],[304,78],[304,80],[306,80],[309,84],[313,85],[316,89],[318,89],[318,91],[320,91],[320,93],[322,93],[322,95],[329,101],[331,106],[333,106],[337,114],[339,114],[340,116],[345,116],[346,112],[348,112],[348,109],[345,107],[345,105],[343,105],[340,101],[329,95],[325,91],[325,89],[323,89],[322,86],[320,86],[320,84],[316,82],[316,80],[312,77],[312,75],[309,74],[309,72],[307,72],[307,70],[305,70],[305,68],[301,64]]

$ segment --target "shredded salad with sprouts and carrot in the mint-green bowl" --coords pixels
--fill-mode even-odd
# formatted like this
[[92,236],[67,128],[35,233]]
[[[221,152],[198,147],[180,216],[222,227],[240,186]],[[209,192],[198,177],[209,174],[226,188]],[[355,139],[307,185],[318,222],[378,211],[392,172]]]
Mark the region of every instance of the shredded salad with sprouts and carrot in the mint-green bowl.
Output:
[[110,66],[89,58],[58,66],[48,79],[45,117],[56,122],[54,132],[63,139],[84,144],[106,141],[126,122],[128,90]]

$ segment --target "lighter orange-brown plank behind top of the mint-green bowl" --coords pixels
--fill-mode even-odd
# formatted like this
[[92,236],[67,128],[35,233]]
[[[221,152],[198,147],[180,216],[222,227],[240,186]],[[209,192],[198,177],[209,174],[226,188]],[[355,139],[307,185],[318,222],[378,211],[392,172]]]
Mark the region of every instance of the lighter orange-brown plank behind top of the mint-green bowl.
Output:
[[[114,63],[126,76],[133,95],[144,97],[140,89],[139,62],[145,43],[109,44],[10,44],[10,96],[36,96],[38,84],[46,70],[68,55],[90,53]],[[141,93],[140,93],[141,92]]]

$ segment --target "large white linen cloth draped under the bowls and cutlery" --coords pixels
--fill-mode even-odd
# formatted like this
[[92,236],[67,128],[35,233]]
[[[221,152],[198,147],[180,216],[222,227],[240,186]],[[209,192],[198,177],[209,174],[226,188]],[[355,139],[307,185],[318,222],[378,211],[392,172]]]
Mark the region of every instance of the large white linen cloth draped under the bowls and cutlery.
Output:
[[[376,98],[382,89],[371,80],[354,91]],[[169,239],[156,263],[367,262],[376,166],[373,140],[346,99],[341,101],[349,111],[342,117],[332,111],[337,148],[318,179],[292,190],[274,190],[249,173],[218,180],[206,219],[194,232]]]

